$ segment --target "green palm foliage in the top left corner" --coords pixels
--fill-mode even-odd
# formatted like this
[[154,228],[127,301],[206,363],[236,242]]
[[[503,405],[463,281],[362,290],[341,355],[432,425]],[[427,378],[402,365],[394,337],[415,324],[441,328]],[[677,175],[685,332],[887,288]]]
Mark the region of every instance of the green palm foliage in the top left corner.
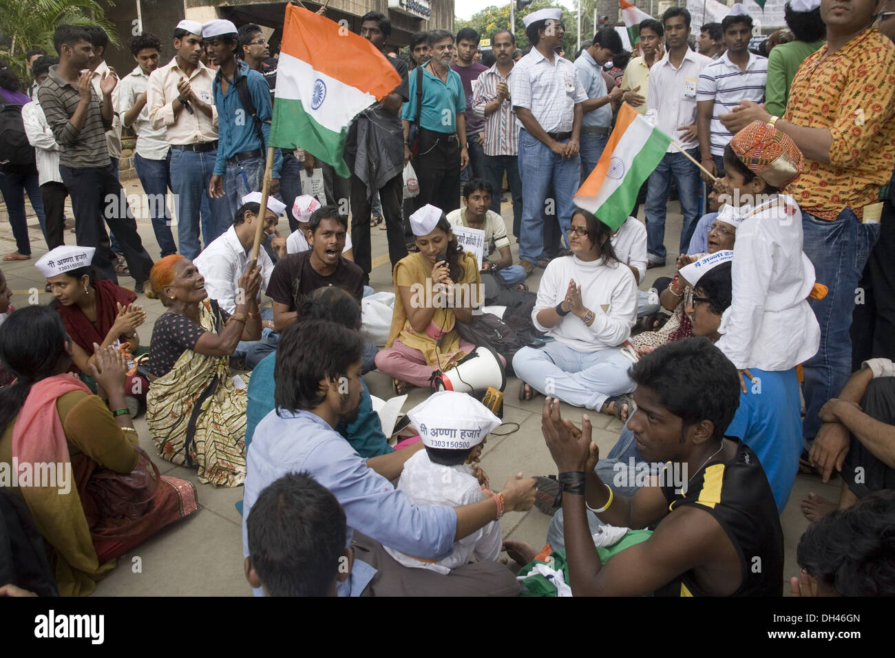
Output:
[[118,43],[115,26],[96,0],[0,0],[0,56],[25,81],[25,51],[42,47],[54,54],[53,32],[66,24],[98,25],[110,43]]

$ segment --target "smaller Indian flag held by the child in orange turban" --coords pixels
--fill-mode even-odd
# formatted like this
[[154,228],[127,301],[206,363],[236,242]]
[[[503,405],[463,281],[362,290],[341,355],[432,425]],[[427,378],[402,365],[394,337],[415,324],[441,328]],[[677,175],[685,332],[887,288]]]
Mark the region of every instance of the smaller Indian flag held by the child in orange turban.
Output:
[[575,205],[590,210],[613,230],[618,228],[670,143],[667,134],[654,128],[634,107],[622,103],[600,162],[575,193]]

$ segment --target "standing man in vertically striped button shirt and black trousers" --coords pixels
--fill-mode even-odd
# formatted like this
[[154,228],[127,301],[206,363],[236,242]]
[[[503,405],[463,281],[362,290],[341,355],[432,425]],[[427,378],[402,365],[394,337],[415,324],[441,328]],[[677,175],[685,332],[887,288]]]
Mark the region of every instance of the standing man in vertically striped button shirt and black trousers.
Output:
[[513,197],[513,235],[522,224],[522,180],[519,178],[519,129],[510,100],[509,78],[513,73],[516,36],[498,30],[491,38],[497,62],[479,76],[473,92],[473,112],[485,119],[485,178],[491,184],[491,210],[500,214],[504,172]]

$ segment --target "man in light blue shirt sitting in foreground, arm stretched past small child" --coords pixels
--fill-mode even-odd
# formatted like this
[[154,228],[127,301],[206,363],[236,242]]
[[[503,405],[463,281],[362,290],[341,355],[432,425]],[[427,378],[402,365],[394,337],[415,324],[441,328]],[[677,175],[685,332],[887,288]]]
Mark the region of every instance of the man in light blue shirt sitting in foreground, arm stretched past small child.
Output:
[[[315,349],[308,350],[309,345]],[[354,539],[358,560],[352,576],[339,585],[340,595],[364,590],[365,594],[518,594],[512,572],[496,562],[465,565],[441,576],[403,567],[382,549],[384,544],[421,561],[439,560],[453,551],[456,540],[503,511],[531,508],[534,480],[512,477],[499,494],[473,505],[413,505],[389,481],[401,474],[407,458],[422,444],[364,460],[334,430],[338,423],[356,418],[362,391],[361,351],[357,332],[328,320],[300,321],[283,332],[274,371],[277,408],[258,424],[246,454],[243,555],[249,556],[245,519],[260,491],[285,474],[307,472],[336,496],[345,509],[348,541]],[[371,569],[361,567],[360,561]]]

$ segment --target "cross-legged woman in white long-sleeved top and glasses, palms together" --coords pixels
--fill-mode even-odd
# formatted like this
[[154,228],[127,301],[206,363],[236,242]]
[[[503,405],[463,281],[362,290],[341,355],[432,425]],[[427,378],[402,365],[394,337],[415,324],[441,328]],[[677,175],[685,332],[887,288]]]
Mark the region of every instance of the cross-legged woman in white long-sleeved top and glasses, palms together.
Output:
[[534,326],[553,341],[541,349],[523,347],[513,359],[524,381],[519,395],[533,390],[574,406],[603,411],[609,397],[629,393],[630,362],[619,346],[635,323],[637,284],[618,261],[612,229],[576,208],[569,227],[571,256],[550,261],[534,304]]

